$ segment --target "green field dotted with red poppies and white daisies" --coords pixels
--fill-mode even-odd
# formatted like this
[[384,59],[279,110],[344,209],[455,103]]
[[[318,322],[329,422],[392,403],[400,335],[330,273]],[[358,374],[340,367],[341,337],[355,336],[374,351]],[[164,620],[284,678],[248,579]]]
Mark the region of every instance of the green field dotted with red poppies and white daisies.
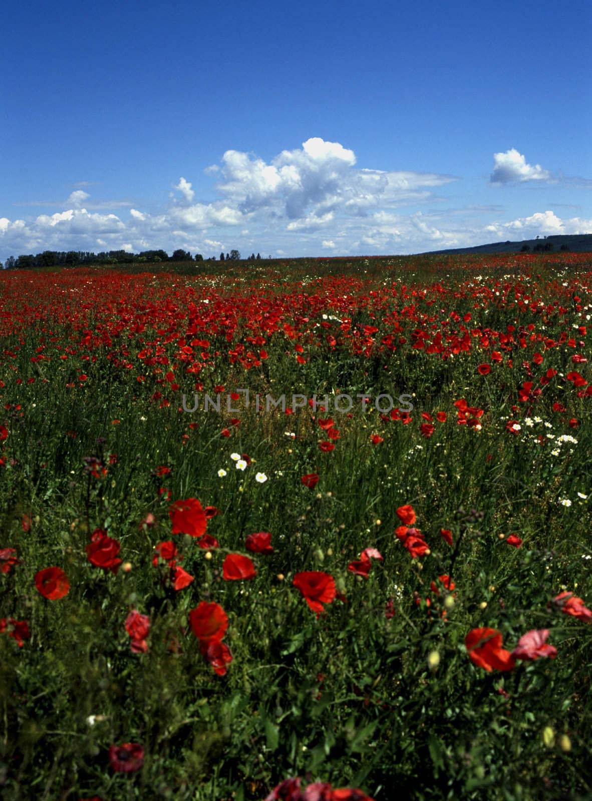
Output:
[[592,798],[592,255],[167,269],[0,276],[3,797]]

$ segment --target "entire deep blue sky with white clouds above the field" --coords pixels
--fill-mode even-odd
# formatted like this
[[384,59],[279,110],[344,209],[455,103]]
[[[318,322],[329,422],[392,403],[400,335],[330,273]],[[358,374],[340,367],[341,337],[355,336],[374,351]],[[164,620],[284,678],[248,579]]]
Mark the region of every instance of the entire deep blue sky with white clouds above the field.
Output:
[[0,260],[592,232],[588,0],[11,6]]

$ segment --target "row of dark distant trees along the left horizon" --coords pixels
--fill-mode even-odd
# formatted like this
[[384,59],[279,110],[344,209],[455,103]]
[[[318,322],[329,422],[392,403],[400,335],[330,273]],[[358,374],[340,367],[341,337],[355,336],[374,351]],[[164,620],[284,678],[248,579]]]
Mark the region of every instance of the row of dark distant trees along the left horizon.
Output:
[[[271,256],[268,256],[271,259]],[[249,260],[261,259],[259,253],[252,253]],[[79,267],[84,264],[158,264],[167,261],[215,261],[215,256],[204,259],[201,253],[191,256],[189,251],[179,248],[172,256],[163,250],[142,251],[140,253],[128,253],[127,251],[102,251],[93,253],[91,251],[43,251],[34,255],[32,253],[22,254],[21,256],[9,256],[6,262],[0,262],[0,268],[5,270],[27,270],[38,267]],[[241,261],[240,252],[232,250],[224,255],[220,253],[220,261]]]

